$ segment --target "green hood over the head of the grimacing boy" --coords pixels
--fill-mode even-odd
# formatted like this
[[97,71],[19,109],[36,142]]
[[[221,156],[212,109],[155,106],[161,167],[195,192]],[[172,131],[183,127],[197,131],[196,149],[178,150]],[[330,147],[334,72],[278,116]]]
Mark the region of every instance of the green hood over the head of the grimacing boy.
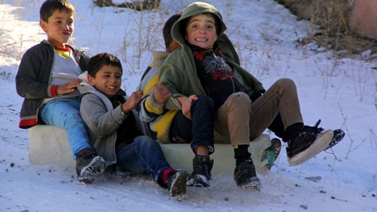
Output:
[[181,18],[178,19],[172,26],[172,38],[177,41],[181,46],[185,45],[184,35],[186,34],[186,20],[195,15],[202,13],[210,13],[216,17],[216,33],[218,37],[227,29],[220,12],[213,6],[205,2],[194,2],[184,9]]

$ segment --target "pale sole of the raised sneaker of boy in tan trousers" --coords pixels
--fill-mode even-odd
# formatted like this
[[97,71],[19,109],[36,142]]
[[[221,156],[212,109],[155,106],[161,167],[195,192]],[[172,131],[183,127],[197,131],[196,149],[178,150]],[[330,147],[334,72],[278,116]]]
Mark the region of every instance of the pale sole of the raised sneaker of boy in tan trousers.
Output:
[[334,132],[332,130],[323,132],[323,134],[320,135],[307,149],[299,152],[291,158],[288,158],[289,165],[298,166],[302,163],[305,163],[310,158],[313,158],[329,146],[329,143],[331,142],[333,136]]

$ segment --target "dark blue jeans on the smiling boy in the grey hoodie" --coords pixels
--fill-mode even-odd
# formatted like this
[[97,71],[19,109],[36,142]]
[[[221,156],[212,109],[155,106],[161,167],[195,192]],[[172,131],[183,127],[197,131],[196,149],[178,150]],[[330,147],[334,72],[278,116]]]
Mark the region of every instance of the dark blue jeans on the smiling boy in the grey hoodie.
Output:
[[160,145],[148,136],[138,136],[133,142],[122,147],[116,154],[116,165],[124,172],[152,175],[159,183],[159,176],[171,167],[166,161]]

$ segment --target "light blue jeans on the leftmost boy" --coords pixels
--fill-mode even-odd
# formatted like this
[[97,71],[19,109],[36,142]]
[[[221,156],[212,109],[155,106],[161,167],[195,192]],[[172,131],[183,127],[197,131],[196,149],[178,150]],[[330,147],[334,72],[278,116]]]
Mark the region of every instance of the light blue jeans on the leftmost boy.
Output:
[[42,121],[67,131],[68,145],[76,160],[76,153],[91,148],[87,127],[80,115],[80,101],[77,98],[55,98],[40,108]]

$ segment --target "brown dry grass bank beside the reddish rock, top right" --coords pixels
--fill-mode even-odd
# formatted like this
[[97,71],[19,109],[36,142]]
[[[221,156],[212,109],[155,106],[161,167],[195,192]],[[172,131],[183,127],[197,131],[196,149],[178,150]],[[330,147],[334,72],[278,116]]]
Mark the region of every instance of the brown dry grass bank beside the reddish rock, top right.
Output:
[[356,0],[276,0],[298,18],[310,20],[311,33],[298,42],[316,43],[327,50],[337,51],[340,57],[351,57],[370,50],[377,53],[377,41],[351,33],[349,17]]

